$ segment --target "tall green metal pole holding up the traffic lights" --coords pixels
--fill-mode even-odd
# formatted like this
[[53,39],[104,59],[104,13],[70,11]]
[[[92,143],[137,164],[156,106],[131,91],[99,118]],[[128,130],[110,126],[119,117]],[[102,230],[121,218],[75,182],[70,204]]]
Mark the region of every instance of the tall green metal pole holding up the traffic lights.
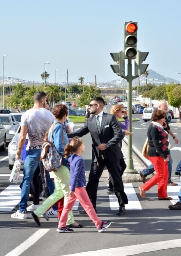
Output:
[[[129,124],[129,131],[132,132],[132,64],[131,59],[128,59],[128,75],[127,75],[127,81],[128,81],[128,117],[130,120]],[[128,136],[128,162],[127,162],[127,168],[124,171],[125,173],[137,173],[137,171],[134,170],[133,166],[133,156],[132,156],[132,135]]]

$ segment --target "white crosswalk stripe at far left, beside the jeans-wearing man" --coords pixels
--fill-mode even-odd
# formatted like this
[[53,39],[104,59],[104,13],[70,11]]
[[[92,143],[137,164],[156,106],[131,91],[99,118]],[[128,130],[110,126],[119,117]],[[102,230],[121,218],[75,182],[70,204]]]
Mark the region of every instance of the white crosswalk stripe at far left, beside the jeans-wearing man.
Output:
[[19,185],[9,185],[0,193],[0,211],[12,211],[21,199]]

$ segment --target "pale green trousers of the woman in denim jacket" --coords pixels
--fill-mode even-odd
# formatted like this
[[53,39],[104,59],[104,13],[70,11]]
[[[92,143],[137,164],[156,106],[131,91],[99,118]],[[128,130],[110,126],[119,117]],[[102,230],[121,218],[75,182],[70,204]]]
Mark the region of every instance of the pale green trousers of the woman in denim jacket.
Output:
[[[64,206],[67,203],[69,195],[69,180],[70,172],[67,167],[62,165],[57,172],[54,172],[55,189],[52,195],[50,195],[42,204],[34,211],[34,213],[41,217],[54,203],[64,197]],[[74,222],[72,210],[69,211],[67,225]]]

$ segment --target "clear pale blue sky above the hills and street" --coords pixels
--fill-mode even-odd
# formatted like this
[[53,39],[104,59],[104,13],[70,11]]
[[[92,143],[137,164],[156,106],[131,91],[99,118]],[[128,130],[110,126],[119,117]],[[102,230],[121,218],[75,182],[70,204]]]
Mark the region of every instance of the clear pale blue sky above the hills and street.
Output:
[[[0,1],[0,76],[69,82],[116,80],[110,53],[124,50],[124,23],[138,23],[137,50],[144,63],[181,81],[180,0],[6,0]],[[55,69],[60,69],[56,71]],[[65,76],[61,75],[62,82]]]

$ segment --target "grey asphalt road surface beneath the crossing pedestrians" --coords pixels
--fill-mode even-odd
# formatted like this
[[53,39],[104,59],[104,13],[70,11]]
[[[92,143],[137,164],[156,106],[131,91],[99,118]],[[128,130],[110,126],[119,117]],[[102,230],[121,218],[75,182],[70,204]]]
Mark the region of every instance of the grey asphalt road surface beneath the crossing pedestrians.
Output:
[[[136,117],[136,115],[135,115]],[[142,128],[145,124],[142,121],[133,124],[135,128]],[[146,124],[148,126],[148,124]],[[80,128],[81,125],[77,125],[76,128]],[[140,139],[143,137],[143,133],[146,134],[146,129],[135,129],[133,134],[133,144],[139,149]],[[143,127],[145,128],[145,127]],[[177,132],[178,133],[178,132]],[[139,137],[139,138],[138,138]],[[83,137],[86,145],[86,152],[83,154],[83,158],[86,162],[86,177],[88,177],[88,171],[90,170],[91,163],[91,138],[90,135]],[[144,138],[145,139],[145,138]],[[142,138],[142,142],[143,142]],[[181,141],[181,140],[180,140]],[[176,152],[176,151],[174,151]],[[173,158],[174,158],[174,154]],[[0,160],[7,156],[7,150],[0,152]],[[0,192],[4,191],[10,185],[8,179],[5,176],[10,174],[8,169],[8,159],[0,162]],[[175,160],[174,160],[175,161]],[[4,176],[2,176],[4,175]],[[21,179],[20,179],[21,180]],[[12,211],[0,211],[0,255],[12,256],[12,255],[38,255],[44,256],[52,255],[69,255],[73,253],[96,251],[102,249],[110,249],[108,254],[100,252],[99,255],[121,255],[114,251],[114,248],[120,248],[122,246],[137,246],[140,249],[139,244],[152,243],[157,241],[176,240],[180,238],[181,233],[181,216],[180,211],[168,210],[170,201],[158,201],[157,199],[157,187],[153,187],[147,193],[147,200],[142,199],[139,196],[138,186],[140,182],[131,184],[133,190],[128,192],[129,205],[131,208],[126,211],[123,216],[117,216],[117,210],[112,210],[110,207],[110,199],[106,193],[107,185],[107,173],[105,172],[99,182],[97,210],[98,217],[102,220],[111,220],[112,226],[109,227],[105,233],[98,233],[94,227],[93,222],[87,217],[87,215],[80,215],[77,210],[74,211],[75,220],[83,224],[82,229],[74,229],[74,233],[59,234],[56,232],[57,220],[51,218],[49,222],[42,218],[41,227],[37,227],[31,218],[30,214],[27,214],[27,219],[11,219],[10,215],[15,212],[18,206],[15,206]],[[177,179],[177,182],[179,180]],[[19,182],[20,184],[20,182]],[[128,188],[129,184],[125,184],[125,188]],[[129,191],[129,188],[128,188]],[[170,192],[174,195],[178,195],[178,192]],[[1,193],[2,194],[2,193]],[[12,195],[15,196],[15,195]],[[136,207],[139,205],[140,210],[135,210],[133,206],[133,196],[136,196]],[[114,197],[114,196],[111,196]],[[0,197],[0,204],[8,200],[11,204],[12,198],[7,196]],[[31,202],[29,202],[30,204]],[[79,206],[78,209],[81,207]],[[17,248],[17,246],[19,246]],[[178,244],[181,246],[181,244]],[[177,247],[178,247],[177,246]],[[156,245],[152,245],[150,252],[143,252],[141,255],[179,255],[180,248],[165,249],[164,251],[152,252]],[[16,251],[12,251],[16,248]],[[161,253],[161,254],[159,254]],[[94,255],[95,253],[91,253]],[[83,255],[86,255],[83,253]],[[128,254],[124,254],[128,255]],[[135,255],[129,254],[129,255]]]

